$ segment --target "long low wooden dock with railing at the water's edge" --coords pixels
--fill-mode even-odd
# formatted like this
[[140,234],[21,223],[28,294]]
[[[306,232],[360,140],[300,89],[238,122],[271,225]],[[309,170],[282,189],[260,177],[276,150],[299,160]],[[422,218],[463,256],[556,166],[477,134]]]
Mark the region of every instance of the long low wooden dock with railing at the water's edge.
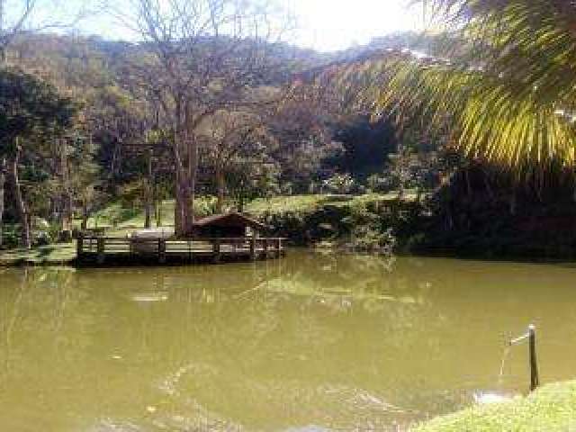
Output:
[[108,238],[79,237],[80,264],[139,264],[250,261],[283,257],[284,238]]

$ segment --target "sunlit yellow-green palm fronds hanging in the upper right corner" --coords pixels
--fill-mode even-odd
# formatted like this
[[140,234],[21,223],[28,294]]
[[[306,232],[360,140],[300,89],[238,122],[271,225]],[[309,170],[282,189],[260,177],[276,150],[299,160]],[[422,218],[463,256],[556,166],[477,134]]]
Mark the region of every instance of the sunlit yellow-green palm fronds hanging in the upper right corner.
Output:
[[[447,132],[471,157],[518,171],[573,166],[576,6],[561,0],[430,4],[434,14],[455,23],[464,49],[446,47],[437,58],[392,56],[385,66],[374,62],[378,79],[361,99],[374,97],[377,87],[378,111],[425,115],[432,129]],[[374,73],[369,69],[364,64],[356,73]]]

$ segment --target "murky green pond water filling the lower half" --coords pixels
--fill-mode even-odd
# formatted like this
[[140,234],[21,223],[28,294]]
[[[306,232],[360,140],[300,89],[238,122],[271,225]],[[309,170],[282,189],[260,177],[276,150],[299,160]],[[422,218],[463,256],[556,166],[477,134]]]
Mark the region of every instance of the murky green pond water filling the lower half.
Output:
[[576,267],[324,257],[0,270],[0,430],[383,430],[576,376]]

